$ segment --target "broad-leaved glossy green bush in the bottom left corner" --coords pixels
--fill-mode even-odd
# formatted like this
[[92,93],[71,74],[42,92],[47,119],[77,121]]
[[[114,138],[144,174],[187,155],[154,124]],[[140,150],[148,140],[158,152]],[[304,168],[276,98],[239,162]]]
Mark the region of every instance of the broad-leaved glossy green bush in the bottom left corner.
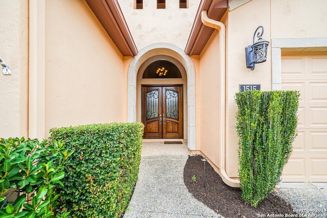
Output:
[[0,217],[54,217],[59,195],[53,188],[62,185],[62,168],[69,155],[56,141],[1,138]]

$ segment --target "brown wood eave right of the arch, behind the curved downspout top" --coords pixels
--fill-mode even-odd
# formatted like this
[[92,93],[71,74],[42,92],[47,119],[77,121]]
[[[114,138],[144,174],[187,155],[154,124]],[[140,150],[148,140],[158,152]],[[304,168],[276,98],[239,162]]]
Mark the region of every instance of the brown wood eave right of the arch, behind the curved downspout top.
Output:
[[213,28],[203,25],[201,21],[201,12],[206,10],[209,18],[221,20],[227,8],[227,0],[202,0],[200,2],[191,34],[184,50],[187,55],[200,55],[206,42],[214,32]]

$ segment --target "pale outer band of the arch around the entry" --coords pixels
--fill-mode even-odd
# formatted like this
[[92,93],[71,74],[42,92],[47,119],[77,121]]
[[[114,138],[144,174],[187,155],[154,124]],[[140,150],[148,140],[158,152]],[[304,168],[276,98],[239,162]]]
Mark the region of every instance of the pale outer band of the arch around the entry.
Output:
[[187,75],[188,101],[188,147],[196,150],[195,132],[195,68],[191,58],[182,49],[170,43],[154,43],[144,47],[128,67],[127,120],[136,122],[136,80],[139,67],[149,58],[166,55],[175,58],[184,67]]

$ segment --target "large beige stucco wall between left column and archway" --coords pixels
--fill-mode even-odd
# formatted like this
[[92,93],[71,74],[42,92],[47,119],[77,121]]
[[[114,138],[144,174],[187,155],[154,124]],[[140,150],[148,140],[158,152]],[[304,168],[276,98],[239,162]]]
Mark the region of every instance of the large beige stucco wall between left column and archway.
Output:
[[87,4],[49,0],[45,16],[45,132],[126,122],[128,59]]

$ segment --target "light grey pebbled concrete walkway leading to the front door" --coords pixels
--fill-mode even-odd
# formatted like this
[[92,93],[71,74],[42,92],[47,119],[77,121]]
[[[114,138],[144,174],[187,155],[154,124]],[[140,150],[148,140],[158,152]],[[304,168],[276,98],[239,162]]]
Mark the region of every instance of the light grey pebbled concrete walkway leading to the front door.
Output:
[[124,218],[222,217],[192,197],[183,181],[187,144],[144,142],[138,181]]

